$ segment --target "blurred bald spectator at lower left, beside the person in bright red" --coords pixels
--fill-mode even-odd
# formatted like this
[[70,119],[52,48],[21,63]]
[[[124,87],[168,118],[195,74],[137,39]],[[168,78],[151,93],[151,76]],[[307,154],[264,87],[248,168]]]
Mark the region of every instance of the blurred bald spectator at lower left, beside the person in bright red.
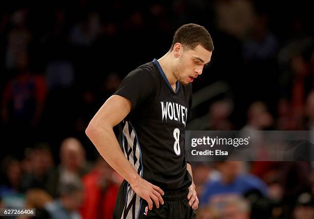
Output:
[[47,190],[56,197],[58,187],[64,183],[80,180],[91,170],[85,158],[85,150],[80,141],[75,138],[66,138],[60,148],[61,163],[49,174]]

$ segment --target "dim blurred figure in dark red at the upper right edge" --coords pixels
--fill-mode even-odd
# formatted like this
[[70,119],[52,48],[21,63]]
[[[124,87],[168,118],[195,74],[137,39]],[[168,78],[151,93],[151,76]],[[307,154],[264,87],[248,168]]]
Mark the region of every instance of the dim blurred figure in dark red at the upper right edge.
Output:
[[302,128],[302,116],[306,96],[314,85],[314,41],[304,32],[304,21],[295,17],[295,35],[279,51],[278,62],[281,67],[281,96],[289,99],[292,119]]

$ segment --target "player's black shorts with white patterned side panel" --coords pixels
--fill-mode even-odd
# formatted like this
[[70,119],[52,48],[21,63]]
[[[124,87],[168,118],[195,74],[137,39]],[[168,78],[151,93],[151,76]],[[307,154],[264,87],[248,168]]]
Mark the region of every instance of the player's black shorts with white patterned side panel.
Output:
[[166,191],[162,196],[164,204],[160,204],[159,208],[153,204],[152,210],[149,210],[147,202],[134,193],[124,180],[117,194],[113,218],[196,218],[195,210],[188,204],[187,194],[187,189]]

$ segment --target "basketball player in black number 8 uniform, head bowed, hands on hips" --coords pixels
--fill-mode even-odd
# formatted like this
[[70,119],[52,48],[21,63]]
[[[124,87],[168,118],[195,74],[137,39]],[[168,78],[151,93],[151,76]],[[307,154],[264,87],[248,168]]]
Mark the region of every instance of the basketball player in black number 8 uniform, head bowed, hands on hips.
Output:
[[[202,74],[212,51],[204,27],[183,25],[171,49],[129,73],[89,123],[87,136],[125,179],[114,218],[195,217],[199,200],[185,159],[184,130],[190,82]],[[118,123],[121,147],[112,130]]]

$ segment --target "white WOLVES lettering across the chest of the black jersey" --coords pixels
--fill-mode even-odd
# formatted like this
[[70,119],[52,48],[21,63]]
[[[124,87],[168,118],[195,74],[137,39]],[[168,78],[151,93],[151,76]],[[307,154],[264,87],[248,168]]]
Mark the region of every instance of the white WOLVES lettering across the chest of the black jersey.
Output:
[[181,105],[180,103],[174,102],[164,102],[160,101],[162,108],[162,122],[167,122],[169,120],[175,120],[178,122],[182,122],[185,126],[187,120],[187,107]]

